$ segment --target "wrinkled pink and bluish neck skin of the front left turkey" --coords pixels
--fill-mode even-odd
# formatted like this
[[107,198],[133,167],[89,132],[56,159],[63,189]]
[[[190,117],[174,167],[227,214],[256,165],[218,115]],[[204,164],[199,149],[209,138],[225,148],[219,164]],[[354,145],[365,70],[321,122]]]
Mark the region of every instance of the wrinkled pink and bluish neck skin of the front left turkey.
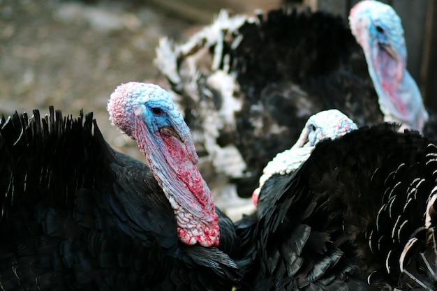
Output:
[[175,211],[179,239],[218,246],[220,232],[212,194],[182,142],[165,128],[150,133],[138,117],[135,139]]

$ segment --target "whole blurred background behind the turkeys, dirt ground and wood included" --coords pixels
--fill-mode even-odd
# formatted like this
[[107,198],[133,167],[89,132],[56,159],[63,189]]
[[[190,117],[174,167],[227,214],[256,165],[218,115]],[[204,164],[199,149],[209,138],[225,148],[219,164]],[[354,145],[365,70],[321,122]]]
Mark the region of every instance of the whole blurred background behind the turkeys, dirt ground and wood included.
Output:
[[[347,17],[357,1],[297,1]],[[434,0],[384,1],[399,13],[408,47],[408,69],[427,106],[437,109],[436,5]],[[221,8],[253,14],[280,0],[0,0],[0,114],[94,112],[105,139],[142,159],[136,144],[110,126],[108,97],[122,82],[155,82],[168,88],[153,64],[159,38],[187,40]]]

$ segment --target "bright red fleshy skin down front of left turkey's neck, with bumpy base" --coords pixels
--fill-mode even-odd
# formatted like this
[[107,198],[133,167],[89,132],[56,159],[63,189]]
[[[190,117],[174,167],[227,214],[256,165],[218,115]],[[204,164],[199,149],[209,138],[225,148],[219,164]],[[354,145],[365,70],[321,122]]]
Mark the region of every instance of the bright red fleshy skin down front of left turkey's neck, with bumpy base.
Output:
[[161,133],[161,138],[168,152],[166,155],[168,165],[175,171],[182,186],[192,193],[192,196],[189,196],[192,200],[186,202],[191,204],[193,209],[196,204],[201,206],[202,219],[198,219],[178,203],[179,207],[174,210],[179,225],[177,229],[179,239],[189,245],[198,242],[201,246],[218,246],[220,239],[218,216],[214,211],[214,203],[208,201],[211,192],[205,180],[198,168],[186,158],[186,149],[177,137]]

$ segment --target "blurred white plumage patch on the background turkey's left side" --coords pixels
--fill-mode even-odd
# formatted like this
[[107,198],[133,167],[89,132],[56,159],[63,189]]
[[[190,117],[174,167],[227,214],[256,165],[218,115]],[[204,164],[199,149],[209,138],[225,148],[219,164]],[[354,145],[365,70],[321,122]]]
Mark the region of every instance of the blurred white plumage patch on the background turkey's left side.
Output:
[[[246,15],[231,17],[226,10],[221,10],[211,25],[195,33],[182,45],[177,45],[168,38],[161,39],[156,48],[154,61],[170,82],[176,84],[176,88],[183,88],[184,95],[198,103],[197,113],[202,120],[201,142],[216,172],[234,178],[244,176],[246,163],[235,146],[220,147],[216,140],[220,130],[235,130],[235,112],[242,109],[242,100],[235,97],[235,92],[239,91],[235,74],[228,73],[227,64],[223,65],[223,70],[219,70],[218,67],[223,59],[224,38],[245,22],[251,21],[256,20],[255,18],[249,20]],[[233,45],[237,45],[240,41],[241,39],[235,39],[236,43]],[[214,47],[212,59],[209,55],[209,47]],[[180,59],[183,61],[178,65]],[[202,91],[199,82],[206,84],[202,87]],[[214,105],[212,100],[214,94],[220,98],[220,107]],[[181,104],[182,98],[179,96],[176,100],[181,101],[179,107],[184,110]]]

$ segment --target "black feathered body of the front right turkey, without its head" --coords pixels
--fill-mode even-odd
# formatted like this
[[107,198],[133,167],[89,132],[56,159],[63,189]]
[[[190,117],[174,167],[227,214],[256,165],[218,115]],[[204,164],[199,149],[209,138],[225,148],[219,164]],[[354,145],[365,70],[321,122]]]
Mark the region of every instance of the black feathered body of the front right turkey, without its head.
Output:
[[436,290],[437,143],[398,130],[322,140],[265,181],[237,223],[253,290]]

